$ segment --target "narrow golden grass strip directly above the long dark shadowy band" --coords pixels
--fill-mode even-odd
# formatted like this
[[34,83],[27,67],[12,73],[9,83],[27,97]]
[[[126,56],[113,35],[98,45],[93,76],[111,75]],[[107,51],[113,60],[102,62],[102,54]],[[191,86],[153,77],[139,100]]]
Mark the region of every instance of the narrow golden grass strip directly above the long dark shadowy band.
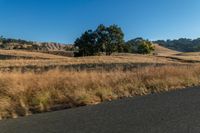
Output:
[[72,66],[83,64],[177,64],[168,58],[156,57],[153,55],[124,55],[124,56],[93,56],[93,57],[67,57],[67,58],[53,58],[53,59],[7,59],[0,60],[0,70],[6,68],[22,68],[31,67],[37,69],[38,67],[59,67]]

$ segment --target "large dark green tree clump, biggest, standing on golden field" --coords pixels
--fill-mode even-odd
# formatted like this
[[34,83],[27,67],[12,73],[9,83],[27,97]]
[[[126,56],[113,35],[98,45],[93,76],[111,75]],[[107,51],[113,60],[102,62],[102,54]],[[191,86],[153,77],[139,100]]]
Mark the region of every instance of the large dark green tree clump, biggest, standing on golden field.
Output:
[[123,52],[124,34],[120,27],[99,25],[95,31],[86,31],[75,41],[78,56],[90,56],[100,53],[111,55],[113,52]]

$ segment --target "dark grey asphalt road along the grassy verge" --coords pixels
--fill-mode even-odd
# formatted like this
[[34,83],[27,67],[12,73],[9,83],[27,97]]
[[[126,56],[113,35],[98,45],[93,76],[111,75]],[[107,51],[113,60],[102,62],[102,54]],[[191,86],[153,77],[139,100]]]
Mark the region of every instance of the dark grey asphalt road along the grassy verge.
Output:
[[0,133],[199,133],[200,87],[0,121]]

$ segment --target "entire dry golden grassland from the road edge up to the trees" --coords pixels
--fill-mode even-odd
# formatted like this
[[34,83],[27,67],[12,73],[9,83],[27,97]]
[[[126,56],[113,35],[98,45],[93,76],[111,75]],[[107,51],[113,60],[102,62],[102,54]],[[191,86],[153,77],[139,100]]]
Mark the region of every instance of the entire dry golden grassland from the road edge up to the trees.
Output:
[[197,53],[158,45],[155,52],[75,58],[0,50],[0,119],[200,85],[200,64],[187,61],[200,60]]

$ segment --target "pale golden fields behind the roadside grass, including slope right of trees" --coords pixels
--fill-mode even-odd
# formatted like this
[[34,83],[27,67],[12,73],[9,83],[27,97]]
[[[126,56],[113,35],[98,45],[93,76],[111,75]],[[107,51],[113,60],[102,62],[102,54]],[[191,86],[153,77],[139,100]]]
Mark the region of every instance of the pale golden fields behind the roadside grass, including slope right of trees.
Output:
[[[59,67],[69,65],[82,65],[82,64],[177,64],[181,60],[200,60],[198,56],[178,56],[179,52],[163,48],[156,45],[156,53],[158,56],[153,55],[113,55],[113,56],[93,56],[93,57],[64,57],[51,54],[44,54],[39,52],[28,52],[20,50],[0,50],[0,70],[7,68],[25,68],[29,67],[37,69],[38,67]],[[162,55],[160,55],[162,53]],[[13,57],[12,57],[13,56]],[[7,59],[8,57],[8,59]],[[166,58],[168,57],[168,58]],[[1,58],[4,58],[1,60]]]

